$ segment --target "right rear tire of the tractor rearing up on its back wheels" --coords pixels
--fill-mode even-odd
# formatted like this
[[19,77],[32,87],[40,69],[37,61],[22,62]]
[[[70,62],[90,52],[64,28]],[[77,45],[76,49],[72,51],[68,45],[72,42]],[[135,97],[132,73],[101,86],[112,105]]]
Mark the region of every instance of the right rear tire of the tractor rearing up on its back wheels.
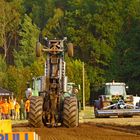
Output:
[[63,108],[63,125],[76,127],[79,125],[78,102],[76,97],[66,97]]

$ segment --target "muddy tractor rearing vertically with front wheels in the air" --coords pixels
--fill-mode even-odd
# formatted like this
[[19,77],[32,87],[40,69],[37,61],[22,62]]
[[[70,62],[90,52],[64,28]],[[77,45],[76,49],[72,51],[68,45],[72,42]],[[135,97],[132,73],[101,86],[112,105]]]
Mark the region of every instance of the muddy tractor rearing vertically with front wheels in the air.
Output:
[[47,40],[45,45],[37,42],[36,56],[46,53],[44,75],[33,78],[26,90],[30,100],[29,125],[32,127],[76,127],[79,123],[77,93],[74,83],[68,83],[64,55],[73,56],[73,44],[64,46],[63,40]]

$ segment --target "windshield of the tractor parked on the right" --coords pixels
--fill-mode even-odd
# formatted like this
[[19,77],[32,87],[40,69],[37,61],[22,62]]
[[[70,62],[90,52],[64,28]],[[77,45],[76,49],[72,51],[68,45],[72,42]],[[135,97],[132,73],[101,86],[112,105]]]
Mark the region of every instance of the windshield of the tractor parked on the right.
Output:
[[123,85],[107,85],[105,90],[106,95],[126,95]]

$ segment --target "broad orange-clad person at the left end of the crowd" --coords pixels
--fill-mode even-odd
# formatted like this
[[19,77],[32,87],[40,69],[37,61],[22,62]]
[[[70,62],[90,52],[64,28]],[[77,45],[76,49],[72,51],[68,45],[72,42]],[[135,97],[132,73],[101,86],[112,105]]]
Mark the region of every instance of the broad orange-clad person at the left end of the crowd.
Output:
[[4,100],[2,107],[2,119],[9,119],[10,116],[10,104],[7,102],[7,99]]

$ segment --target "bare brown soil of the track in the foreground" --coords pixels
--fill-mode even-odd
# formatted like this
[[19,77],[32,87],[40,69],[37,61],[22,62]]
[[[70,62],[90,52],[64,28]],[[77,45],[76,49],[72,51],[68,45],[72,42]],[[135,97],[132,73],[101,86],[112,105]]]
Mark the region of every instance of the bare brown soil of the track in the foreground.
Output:
[[[131,128],[130,128],[131,129]],[[113,129],[95,123],[80,124],[77,128],[30,128],[13,127],[13,131],[35,131],[41,140],[139,140],[140,135],[132,134],[129,131],[122,131],[122,128]],[[121,132],[122,131],[122,132]]]

